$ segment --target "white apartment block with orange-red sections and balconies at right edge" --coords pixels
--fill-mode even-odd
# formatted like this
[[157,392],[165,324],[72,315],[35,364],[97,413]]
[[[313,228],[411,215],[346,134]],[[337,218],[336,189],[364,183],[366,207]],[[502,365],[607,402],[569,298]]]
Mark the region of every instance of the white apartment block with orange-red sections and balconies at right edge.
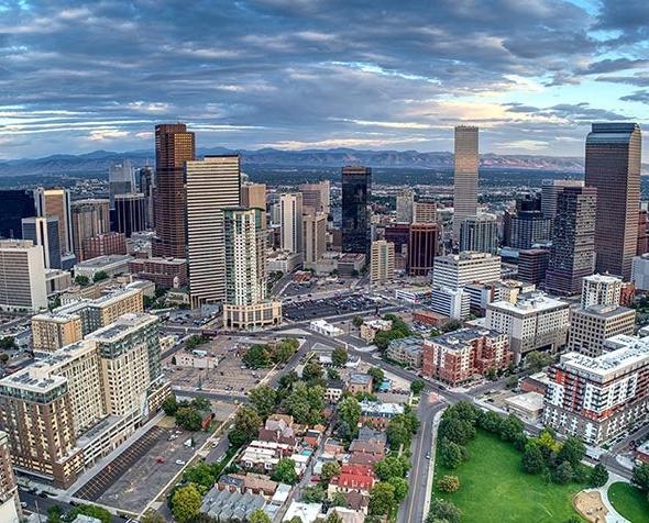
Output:
[[561,356],[549,369],[543,424],[601,445],[649,418],[649,340],[618,335],[596,357]]

